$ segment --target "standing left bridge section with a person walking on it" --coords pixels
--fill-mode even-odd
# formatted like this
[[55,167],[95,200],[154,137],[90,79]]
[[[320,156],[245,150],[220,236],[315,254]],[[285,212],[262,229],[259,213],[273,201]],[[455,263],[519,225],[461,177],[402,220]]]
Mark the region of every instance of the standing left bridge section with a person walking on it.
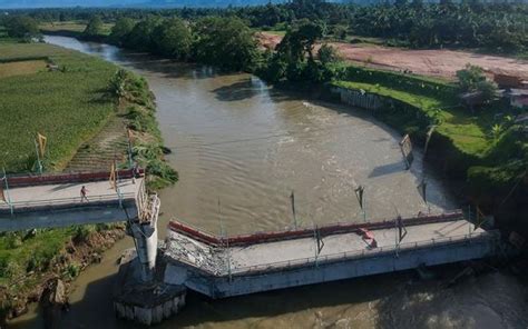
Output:
[[[0,231],[126,221],[145,202],[144,178],[124,176],[111,187],[109,173],[12,178],[0,200]],[[95,179],[94,179],[95,177]],[[90,179],[91,178],[91,179]],[[81,200],[85,186],[88,200]]]

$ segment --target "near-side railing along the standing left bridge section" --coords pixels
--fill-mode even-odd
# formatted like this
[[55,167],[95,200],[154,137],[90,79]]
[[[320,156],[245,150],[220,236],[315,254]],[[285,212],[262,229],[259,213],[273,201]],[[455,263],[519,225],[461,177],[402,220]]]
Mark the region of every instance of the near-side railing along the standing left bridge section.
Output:
[[57,199],[47,199],[47,200],[27,200],[27,201],[17,201],[11,203],[0,203],[0,213],[10,212],[11,209],[17,212],[17,210],[31,210],[31,209],[42,209],[42,208],[58,208],[65,206],[79,207],[79,206],[92,206],[100,203],[119,203],[121,200],[134,200],[136,195],[134,192],[123,193],[118,196],[117,193],[110,195],[98,195],[90,196],[88,200],[81,200],[80,196],[76,198],[57,198]]

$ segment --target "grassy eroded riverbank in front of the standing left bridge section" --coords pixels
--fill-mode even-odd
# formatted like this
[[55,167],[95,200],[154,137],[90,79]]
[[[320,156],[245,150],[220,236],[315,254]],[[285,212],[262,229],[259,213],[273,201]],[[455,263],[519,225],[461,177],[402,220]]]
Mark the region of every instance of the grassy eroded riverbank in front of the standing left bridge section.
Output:
[[[20,256],[39,250],[26,269],[21,263],[9,262],[7,270],[17,272],[17,277],[1,278],[0,325],[26,313],[29,303],[39,302],[48,282],[55,279],[65,282],[66,295],[69,293],[77,276],[88,266],[100,262],[102,253],[125,236],[124,225],[100,225],[16,232],[0,238],[2,253],[13,248]],[[47,259],[38,258],[39,253],[46,255]]]

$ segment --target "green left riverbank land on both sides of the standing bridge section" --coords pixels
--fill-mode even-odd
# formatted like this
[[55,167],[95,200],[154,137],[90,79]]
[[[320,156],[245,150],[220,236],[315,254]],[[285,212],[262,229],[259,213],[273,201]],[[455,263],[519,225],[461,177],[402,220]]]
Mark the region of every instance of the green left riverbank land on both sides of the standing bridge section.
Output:
[[[42,159],[47,172],[110,171],[116,160],[118,167],[130,166],[130,138],[131,159],[149,172],[149,188],[177,180],[176,171],[163,159],[155,102],[144,79],[117,71],[117,66],[100,59],[50,44],[2,42],[0,53],[0,61],[10,66],[2,68],[0,63],[0,69],[12,69],[12,63],[26,68],[0,78],[6,96],[0,104],[1,164],[9,173],[36,170],[32,138],[39,132],[48,138]],[[43,64],[35,66],[35,61]],[[75,168],[72,162],[77,162]],[[23,313],[28,302],[39,300],[50,279],[72,282],[124,237],[124,226],[2,233],[0,319]]]

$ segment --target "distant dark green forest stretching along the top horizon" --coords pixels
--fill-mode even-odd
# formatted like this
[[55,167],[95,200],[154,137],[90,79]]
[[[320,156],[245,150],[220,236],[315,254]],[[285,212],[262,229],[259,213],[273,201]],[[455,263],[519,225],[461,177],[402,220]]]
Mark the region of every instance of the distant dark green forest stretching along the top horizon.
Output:
[[145,20],[150,16],[198,20],[237,17],[252,28],[285,28],[297,20],[323,22],[339,36],[381,37],[412,48],[477,47],[493,51],[528,50],[528,4],[482,0],[395,0],[378,4],[293,0],[286,3],[239,8],[179,9],[41,9],[22,10],[37,20],[89,20],[94,16],[116,22],[121,18]]

